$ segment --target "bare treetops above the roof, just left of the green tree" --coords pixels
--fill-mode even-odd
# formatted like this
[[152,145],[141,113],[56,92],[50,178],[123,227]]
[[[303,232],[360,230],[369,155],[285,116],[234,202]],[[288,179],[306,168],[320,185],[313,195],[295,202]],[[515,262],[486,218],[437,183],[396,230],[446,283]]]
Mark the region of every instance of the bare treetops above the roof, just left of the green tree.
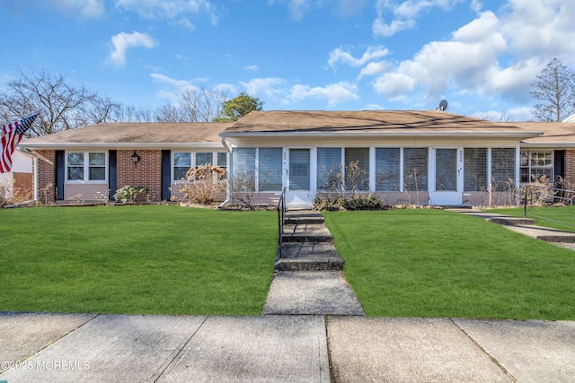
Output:
[[157,109],[155,120],[159,122],[210,122],[221,116],[226,93],[201,88],[187,89],[180,93],[178,103]]

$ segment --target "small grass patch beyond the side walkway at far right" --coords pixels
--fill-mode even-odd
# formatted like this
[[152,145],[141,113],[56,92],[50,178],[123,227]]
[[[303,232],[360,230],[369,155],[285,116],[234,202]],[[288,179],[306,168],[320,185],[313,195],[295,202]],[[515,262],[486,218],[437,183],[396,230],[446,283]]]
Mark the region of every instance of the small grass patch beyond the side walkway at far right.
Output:
[[[525,209],[523,207],[490,209],[485,211],[507,214],[521,218],[525,216]],[[573,208],[571,208],[571,206],[529,207],[527,209],[527,218],[535,219],[536,224],[539,226],[558,229],[562,231],[575,232],[575,207]]]

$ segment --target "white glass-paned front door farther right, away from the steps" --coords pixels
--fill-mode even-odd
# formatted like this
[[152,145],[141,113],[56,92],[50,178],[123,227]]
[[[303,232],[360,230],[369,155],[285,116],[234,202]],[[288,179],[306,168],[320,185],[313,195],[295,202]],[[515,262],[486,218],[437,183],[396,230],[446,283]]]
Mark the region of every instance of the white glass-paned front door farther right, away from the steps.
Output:
[[429,192],[430,205],[461,205],[463,170],[461,148],[434,148],[434,178]]

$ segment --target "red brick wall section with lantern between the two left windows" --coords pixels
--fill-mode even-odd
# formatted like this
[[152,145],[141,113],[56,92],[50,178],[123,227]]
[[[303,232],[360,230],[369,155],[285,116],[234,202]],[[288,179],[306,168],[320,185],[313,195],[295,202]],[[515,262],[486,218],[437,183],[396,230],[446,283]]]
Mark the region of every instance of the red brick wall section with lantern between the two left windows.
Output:
[[133,150],[118,151],[117,180],[118,188],[147,187],[151,201],[162,199],[162,151],[137,150],[140,161],[132,161]]

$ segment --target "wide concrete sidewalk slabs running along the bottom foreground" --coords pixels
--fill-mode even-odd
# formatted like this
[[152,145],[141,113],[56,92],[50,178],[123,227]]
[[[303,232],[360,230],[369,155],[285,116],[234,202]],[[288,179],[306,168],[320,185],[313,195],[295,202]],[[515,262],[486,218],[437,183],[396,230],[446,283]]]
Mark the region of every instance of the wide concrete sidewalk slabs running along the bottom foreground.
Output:
[[0,313],[0,381],[569,382],[574,344],[566,321]]

